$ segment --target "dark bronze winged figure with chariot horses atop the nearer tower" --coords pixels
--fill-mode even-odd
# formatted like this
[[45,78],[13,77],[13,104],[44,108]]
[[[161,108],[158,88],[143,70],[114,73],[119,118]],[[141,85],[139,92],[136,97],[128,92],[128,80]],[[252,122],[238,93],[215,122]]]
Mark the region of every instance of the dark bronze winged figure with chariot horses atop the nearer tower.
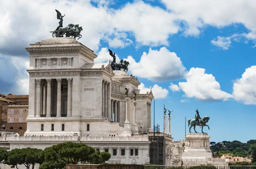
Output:
[[55,31],[51,31],[52,37],[64,37],[65,35],[65,37],[72,37],[73,39],[78,37],[78,39],[80,39],[82,37],[80,32],[83,30],[83,28],[81,26],[79,27],[79,24],[74,25],[72,23],[63,27],[63,17],[65,14],[62,16],[57,9],[55,9],[55,11],[57,12],[57,19],[60,20],[60,22]]

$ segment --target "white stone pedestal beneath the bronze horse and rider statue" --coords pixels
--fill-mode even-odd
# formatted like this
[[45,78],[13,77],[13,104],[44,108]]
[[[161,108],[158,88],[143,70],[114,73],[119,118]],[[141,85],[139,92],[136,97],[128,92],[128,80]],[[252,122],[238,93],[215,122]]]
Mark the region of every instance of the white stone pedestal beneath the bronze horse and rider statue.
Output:
[[188,133],[185,138],[183,165],[214,165],[207,133]]

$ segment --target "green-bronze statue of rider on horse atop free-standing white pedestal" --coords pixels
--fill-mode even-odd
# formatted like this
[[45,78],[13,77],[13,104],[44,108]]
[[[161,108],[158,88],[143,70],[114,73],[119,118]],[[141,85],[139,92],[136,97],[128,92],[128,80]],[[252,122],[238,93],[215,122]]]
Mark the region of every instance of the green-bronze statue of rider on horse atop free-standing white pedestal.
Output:
[[[188,123],[190,124],[189,133],[191,133],[192,127],[194,127],[194,130],[195,130],[195,126],[199,126],[199,127],[202,126],[202,133],[204,133],[203,132],[204,126],[207,126],[208,129],[210,130],[210,127],[206,124],[209,121],[210,117],[204,116],[203,118],[200,118],[198,109],[196,109],[195,112],[196,112],[195,119],[188,119]],[[198,132],[196,132],[196,133],[198,133]]]

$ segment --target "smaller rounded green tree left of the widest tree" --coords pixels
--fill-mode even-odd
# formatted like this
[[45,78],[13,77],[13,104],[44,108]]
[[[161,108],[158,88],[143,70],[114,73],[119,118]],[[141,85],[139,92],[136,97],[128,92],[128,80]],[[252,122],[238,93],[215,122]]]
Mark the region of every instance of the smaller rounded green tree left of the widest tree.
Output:
[[17,165],[24,165],[27,169],[32,166],[34,169],[36,163],[44,162],[43,150],[34,148],[12,149],[7,152],[4,160],[5,164],[10,165],[12,168]]

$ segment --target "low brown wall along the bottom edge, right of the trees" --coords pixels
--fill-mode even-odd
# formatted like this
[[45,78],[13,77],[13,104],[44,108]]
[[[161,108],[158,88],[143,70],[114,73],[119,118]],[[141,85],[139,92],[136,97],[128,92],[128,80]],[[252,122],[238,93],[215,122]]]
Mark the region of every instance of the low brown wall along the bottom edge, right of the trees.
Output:
[[67,165],[66,169],[143,169],[143,165],[129,164],[77,164]]

